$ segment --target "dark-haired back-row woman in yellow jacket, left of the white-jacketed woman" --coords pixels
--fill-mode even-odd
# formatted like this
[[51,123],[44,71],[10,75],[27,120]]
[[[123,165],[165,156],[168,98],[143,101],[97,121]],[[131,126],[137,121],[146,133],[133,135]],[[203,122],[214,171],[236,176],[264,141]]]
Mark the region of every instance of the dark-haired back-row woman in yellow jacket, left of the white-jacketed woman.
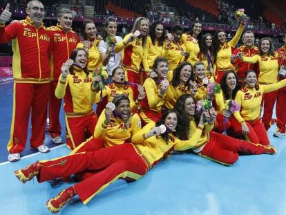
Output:
[[77,44],[77,48],[84,48],[88,53],[88,71],[95,71],[95,68],[102,66],[102,55],[99,52],[98,45],[100,39],[97,39],[97,29],[95,23],[86,19],[82,24],[82,35],[84,41],[80,41]]

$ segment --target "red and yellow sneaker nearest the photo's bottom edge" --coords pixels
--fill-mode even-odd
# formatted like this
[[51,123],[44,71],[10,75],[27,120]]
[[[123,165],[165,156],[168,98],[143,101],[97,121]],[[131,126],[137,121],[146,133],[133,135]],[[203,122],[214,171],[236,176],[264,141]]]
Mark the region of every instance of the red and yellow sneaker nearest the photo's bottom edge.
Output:
[[64,205],[66,205],[66,203],[68,203],[70,199],[73,198],[73,196],[75,196],[73,187],[68,187],[68,189],[64,189],[59,194],[57,194],[55,198],[48,200],[46,207],[50,212],[57,213],[61,210],[62,207],[64,207]]

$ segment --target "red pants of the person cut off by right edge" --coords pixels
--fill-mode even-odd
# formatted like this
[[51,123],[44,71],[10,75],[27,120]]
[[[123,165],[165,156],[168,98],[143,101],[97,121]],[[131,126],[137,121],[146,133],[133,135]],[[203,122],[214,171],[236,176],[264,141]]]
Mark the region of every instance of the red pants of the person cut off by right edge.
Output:
[[280,133],[285,133],[286,130],[286,86],[278,90],[277,102],[276,102],[276,117],[277,127]]

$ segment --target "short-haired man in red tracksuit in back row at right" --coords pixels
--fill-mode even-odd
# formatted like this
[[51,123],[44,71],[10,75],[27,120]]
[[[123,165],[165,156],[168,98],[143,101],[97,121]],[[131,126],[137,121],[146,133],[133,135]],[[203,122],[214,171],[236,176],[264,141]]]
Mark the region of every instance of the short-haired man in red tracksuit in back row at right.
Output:
[[[254,32],[251,30],[246,31],[242,35],[243,46],[236,48],[233,51],[233,55],[237,53],[243,53],[243,56],[252,57],[254,55],[258,55],[258,48],[254,46]],[[258,64],[249,64],[242,62],[238,58],[231,62],[234,64],[236,68],[236,74],[238,75],[238,80],[240,84],[243,84],[243,79],[245,77],[245,72],[248,70],[256,71],[256,75],[258,75]]]

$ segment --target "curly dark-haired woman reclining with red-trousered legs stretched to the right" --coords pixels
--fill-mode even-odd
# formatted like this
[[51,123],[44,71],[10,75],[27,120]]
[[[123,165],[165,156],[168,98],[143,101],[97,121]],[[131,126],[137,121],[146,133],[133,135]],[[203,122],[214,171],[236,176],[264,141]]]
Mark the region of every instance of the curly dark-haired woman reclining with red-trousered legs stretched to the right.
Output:
[[197,135],[197,130],[202,129],[198,142],[192,142],[191,148],[199,156],[229,166],[238,160],[239,153],[259,155],[276,152],[271,146],[254,144],[211,131],[216,120],[216,111],[213,108],[209,110],[208,120],[204,113],[196,113],[195,100],[191,95],[182,95],[175,104],[175,110],[180,113],[179,121],[188,123],[187,127],[184,127],[187,138],[193,138],[193,135]]

